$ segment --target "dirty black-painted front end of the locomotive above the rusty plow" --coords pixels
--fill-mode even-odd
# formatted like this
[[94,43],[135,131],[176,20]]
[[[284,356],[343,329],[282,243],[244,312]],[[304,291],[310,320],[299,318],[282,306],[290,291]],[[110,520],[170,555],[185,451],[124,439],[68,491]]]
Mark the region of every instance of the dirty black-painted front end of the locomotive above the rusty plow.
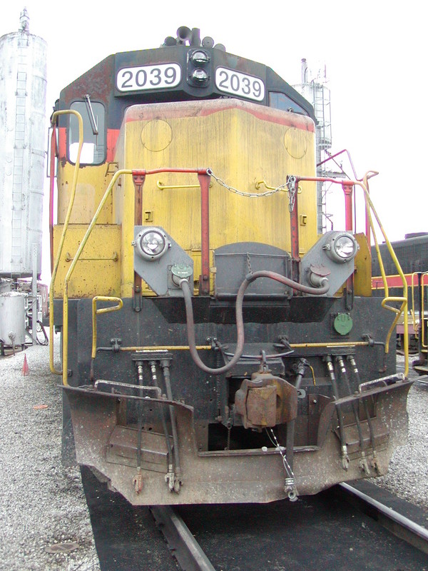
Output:
[[[235,323],[231,319],[224,319],[229,313],[228,317],[231,317],[233,304],[230,303],[230,308],[227,308],[225,313],[224,303],[215,302],[209,298],[198,298],[194,301],[195,315],[198,316],[195,324],[198,343],[205,345],[208,339],[216,338],[219,343],[227,346],[228,352],[233,353],[236,341]],[[122,347],[186,345],[188,341],[182,305],[184,305],[183,300],[176,298],[143,298],[142,310],[136,313],[133,311],[132,300],[125,299],[120,312],[99,316],[98,347],[110,349],[112,339],[120,339]],[[290,306],[294,306],[292,311]],[[255,302],[248,302],[244,308],[244,354],[260,355],[261,349],[264,349],[267,354],[280,352],[280,348],[274,344],[284,337],[289,343],[361,341],[365,335],[370,335],[374,341],[383,340],[392,317],[385,315],[384,318],[379,318],[379,308],[380,300],[377,298],[355,298],[355,308],[352,313],[354,327],[350,335],[342,337],[337,335],[332,327],[334,316],[344,310],[342,298],[293,298],[290,303],[285,303],[282,307],[280,303],[273,304],[272,311],[269,311],[269,305],[265,303],[257,307]],[[265,319],[264,323],[257,323],[255,319],[262,310],[264,315],[270,317]],[[56,308],[55,315],[61,315],[59,307]],[[72,375],[68,381],[72,386],[91,384],[91,340],[91,300],[70,300],[68,366],[72,370]],[[375,345],[372,348],[357,347],[355,353],[354,348],[335,350],[332,348],[297,348],[295,353],[282,359],[285,378],[294,378],[295,363],[298,358],[305,356],[314,369],[317,385],[314,386],[312,374],[308,371],[303,379],[302,388],[305,388],[307,395],[316,393],[331,397],[330,385],[327,383],[327,370],[322,360],[325,355],[347,355],[351,351],[355,354],[362,381],[366,381],[394,373],[394,347],[390,349],[386,360],[386,370],[382,370],[384,368],[382,345]],[[223,420],[225,407],[230,405],[228,402],[230,392],[233,394],[238,389],[239,383],[234,384],[233,378],[243,378],[243,367],[237,365],[228,378],[222,376],[217,379],[213,375],[200,371],[187,350],[172,353],[170,373],[174,398],[193,406],[197,420],[216,423],[219,415]],[[131,351],[113,353],[111,350],[99,350],[94,363],[95,377],[123,383],[136,383],[136,367],[132,355]],[[215,350],[203,350],[201,356],[208,366],[219,366],[220,355]],[[247,366],[244,368],[248,376],[258,370],[260,361],[251,360],[245,363]],[[276,366],[272,365],[275,374],[279,372]],[[144,375],[148,384],[151,384],[148,366],[144,369]],[[231,381],[230,377],[232,377]],[[345,396],[345,387],[340,383],[338,370],[337,378],[340,394]],[[356,390],[355,379],[351,378],[351,382],[352,390]],[[299,400],[299,413],[302,415],[307,415],[307,399],[308,396]]]

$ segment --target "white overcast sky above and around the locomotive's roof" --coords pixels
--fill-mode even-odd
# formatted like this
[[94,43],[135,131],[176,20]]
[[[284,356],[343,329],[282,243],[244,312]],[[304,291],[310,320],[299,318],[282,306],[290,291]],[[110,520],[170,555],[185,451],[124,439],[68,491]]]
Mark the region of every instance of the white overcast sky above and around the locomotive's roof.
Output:
[[[372,200],[391,240],[428,231],[422,2],[27,0],[4,3],[0,36],[18,30],[24,6],[31,34],[48,44],[48,113],[63,86],[98,61],[118,51],[158,47],[178,26],[200,28],[201,37],[212,36],[230,53],[272,67],[290,84],[300,83],[303,57],[310,68],[325,65],[332,152],[347,148],[358,176],[379,171]],[[44,267],[48,260],[44,251]],[[43,277],[49,277],[45,271]]]

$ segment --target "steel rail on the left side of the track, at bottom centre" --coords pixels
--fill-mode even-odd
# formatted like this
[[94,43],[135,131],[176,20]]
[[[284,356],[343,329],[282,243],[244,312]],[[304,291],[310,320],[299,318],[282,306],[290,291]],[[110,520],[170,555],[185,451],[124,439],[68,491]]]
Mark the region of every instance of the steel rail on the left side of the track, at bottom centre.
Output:
[[185,522],[169,505],[152,505],[151,514],[165,536],[172,555],[185,571],[215,571]]

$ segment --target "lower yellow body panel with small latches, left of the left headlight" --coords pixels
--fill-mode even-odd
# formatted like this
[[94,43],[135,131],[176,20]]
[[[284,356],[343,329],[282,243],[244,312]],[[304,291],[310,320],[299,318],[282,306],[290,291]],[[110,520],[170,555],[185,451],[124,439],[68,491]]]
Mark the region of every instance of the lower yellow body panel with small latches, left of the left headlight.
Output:
[[[54,228],[54,255],[61,238],[62,225]],[[58,266],[54,297],[63,295],[63,283],[71,261],[88,226],[68,226],[63,253]],[[70,298],[92,298],[94,295],[120,295],[121,293],[121,228],[116,225],[97,224],[86,243],[68,285]]]

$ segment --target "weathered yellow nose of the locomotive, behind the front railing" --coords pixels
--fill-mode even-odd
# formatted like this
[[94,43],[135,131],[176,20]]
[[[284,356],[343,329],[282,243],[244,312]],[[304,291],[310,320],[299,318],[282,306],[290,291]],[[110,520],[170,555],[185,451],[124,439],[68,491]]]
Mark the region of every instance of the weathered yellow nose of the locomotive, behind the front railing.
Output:
[[[159,103],[131,108],[116,146],[119,168],[210,167],[216,176],[240,191],[263,193],[269,186],[285,183],[287,175],[315,176],[315,133],[308,120],[297,128],[284,123],[291,113],[270,111],[270,120],[254,112],[252,103],[230,100],[225,108],[206,113],[207,103]],[[213,103],[219,106],[218,101]],[[193,106],[194,113],[189,109]],[[259,106],[260,108],[260,106]],[[183,111],[182,116],[180,112]],[[204,113],[204,114],[202,114]],[[198,185],[195,174],[162,173],[146,177],[143,188],[143,219],[148,226],[162,226],[193,256],[195,278],[200,272],[200,190],[164,188]],[[213,180],[210,188],[210,248],[227,243],[257,241],[290,251],[288,194],[248,198],[238,196]],[[122,295],[131,295],[133,283],[133,196],[131,177],[125,178],[113,196],[113,221],[121,223]],[[317,240],[315,183],[301,183],[298,195],[300,252]]]

